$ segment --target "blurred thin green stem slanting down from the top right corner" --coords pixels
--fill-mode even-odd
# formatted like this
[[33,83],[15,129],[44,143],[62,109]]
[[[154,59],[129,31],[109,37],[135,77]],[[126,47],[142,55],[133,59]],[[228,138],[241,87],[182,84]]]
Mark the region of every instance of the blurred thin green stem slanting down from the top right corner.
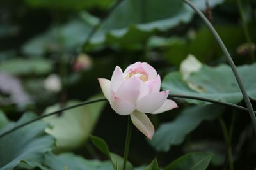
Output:
[[249,34],[249,31],[248,31],[246,20],[244,18],[244,12],[243,12],[243,6],[242,6],[241,0],[237,0],[237,7],[238,7],[238,10],[239,10],[239,13],[240,13],[240,16],[241,16],[242,26],[243,26],[243,30],[244,30],[244,36],[245,36],[246,41],[249,45],[250,57],[251,57],[252,61],[255,62],[252,41],[251,41],[251,38],[250,38],[250,34]]

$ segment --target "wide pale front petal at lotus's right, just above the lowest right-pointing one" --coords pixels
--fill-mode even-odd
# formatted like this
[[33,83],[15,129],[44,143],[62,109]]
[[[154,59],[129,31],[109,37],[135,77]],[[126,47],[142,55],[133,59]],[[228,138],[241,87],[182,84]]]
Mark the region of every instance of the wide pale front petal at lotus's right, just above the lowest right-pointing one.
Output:
[[147,94],[138,101],[137,110],[143,113],[153,113],[163,105],[168,94],[169,91]]

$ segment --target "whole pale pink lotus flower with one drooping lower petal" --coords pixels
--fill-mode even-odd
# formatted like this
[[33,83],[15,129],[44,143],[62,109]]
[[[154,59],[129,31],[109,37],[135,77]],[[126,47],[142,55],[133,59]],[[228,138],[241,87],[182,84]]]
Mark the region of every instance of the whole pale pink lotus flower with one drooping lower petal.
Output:
[[167,99],[169,91],[161,91],[161,79],[156,70],[147,62],[136,62],[124,73],[116,66],[111,81],[99,78],[100,87],[111,107],[120,115],[130,115],[132,123],[149,139],[154,126],[145,113],[163,113],[177,108]]

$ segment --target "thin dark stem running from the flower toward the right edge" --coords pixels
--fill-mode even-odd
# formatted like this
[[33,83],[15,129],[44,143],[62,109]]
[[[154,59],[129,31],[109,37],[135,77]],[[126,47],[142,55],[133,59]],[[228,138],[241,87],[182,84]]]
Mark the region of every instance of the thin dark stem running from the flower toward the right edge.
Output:
[[[225,101],[217,101],[214,99],[208,99],[205,97],[197,97],[197,96],[188,96],[188,95],[182,95],[182,94],[169,94],[170,97],[177,97],[177,98],[183,98],[183,99],[195,99],[198,101],[207,101],[210,103],[216,103],[216,104],[221,104],[221,105],[225,105],[225,106],[229,106],[232,108],[237,108],[239,110],[244,110],[244,111],[248,111],[248,108],[244,108],[243,106],[239,106],[237,104],[233,104],[233,103],[228,103]],[[256,114],[256,111],[254,111],[254,113]]]

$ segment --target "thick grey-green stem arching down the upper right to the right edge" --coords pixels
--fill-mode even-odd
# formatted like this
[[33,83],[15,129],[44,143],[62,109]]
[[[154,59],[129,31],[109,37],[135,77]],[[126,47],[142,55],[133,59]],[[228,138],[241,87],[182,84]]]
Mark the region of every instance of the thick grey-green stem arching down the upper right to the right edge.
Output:
[[224,43],[221,40],[220,36],[218,35],[216,30],[212,26],[211,22],[209,22],[209,20],[207,20],[207,18],[204,16],[202,11],[198,10],[198,8],[196,8],[196,6],[193,3],[191,3],[190,1],[188,1],[188,0],[182,0],[182,1],[184,1],[191,8],[193,8],[193,10],[195,10],[195,12],[198,13],[198,15],[202,18],[202,20],[204,20],[205,24],[207,25],[207,27],[210,29],[210,31],[212,32],[212,34],[214,35],[214,37],[218,41],[221,49],[223,50],[223,53],[227,57],[228,63],[230,64],[230,67],[232,68],[234,76],[236,77],[236,81],[237,81],[237,83],[239,85],[239,88],[240,88],[242,94],[243,94],[244,102],[246,103],[246,106],[248,108],[248,112],[249,112],[249,115],[250,115],[250,118],[251,118],[252,124],[253,124],[253,129],[254,129],[254,132],[256,133],[256,117],[255,117],[255,114],[254,114],[254,111],[253,111],[252,103],[250,102],[248,94],[247,94],[247,92],[246,92],[246,90],[244,88],[243,82],[241,81],[241,78],[239,77],[239,74],[237,72],[236,66],[235,66],[235,64],[234,64],[234,62],[232,60],[232,57],[228,53],[228,50],[227,50],[226,46],[224,45]]

